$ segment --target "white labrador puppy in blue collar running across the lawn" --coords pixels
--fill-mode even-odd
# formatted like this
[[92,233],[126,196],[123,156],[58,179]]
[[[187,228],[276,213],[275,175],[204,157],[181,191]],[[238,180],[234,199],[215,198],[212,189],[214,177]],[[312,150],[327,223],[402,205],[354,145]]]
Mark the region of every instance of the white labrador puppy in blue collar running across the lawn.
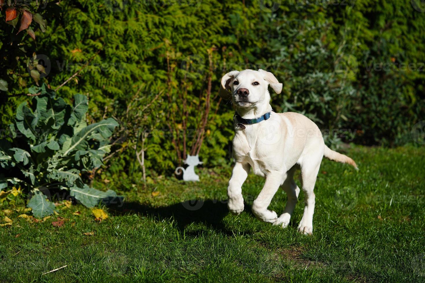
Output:
[[[235,215],[244,210],[242,184],[252,167],[254,174],[266,177],[264,187],[252,205],[252,212],[262,221],[288,226],[300,193],[293,175],[295,169],[300,168],[305,207],[298,231],[312,234],[313,189],[323,156],[351,164],[356,169],[357,165],[350,157],[329,149],[323,142],[320,129],[309,118],[294,112],[272,112],[268,85],[276,93],[282,91],[282,84],[264,70],[232,71],[221,78],[220,95],[232,99],[237,112],[233,139],[236,163],[227,188],[227,206]],[[267,207],[280,186],[286,192],[288,202],[278,217]]]

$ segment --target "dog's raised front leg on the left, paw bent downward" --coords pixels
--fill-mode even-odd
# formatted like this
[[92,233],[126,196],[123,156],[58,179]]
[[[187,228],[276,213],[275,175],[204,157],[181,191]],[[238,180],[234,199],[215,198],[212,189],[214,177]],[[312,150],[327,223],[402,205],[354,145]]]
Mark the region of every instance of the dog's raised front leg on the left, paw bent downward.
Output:
[[242,196],[242,184],[248,177],[249,163],[236,162],[232,171],[232,177],[227,187],[227,207],[233,215],[238,215],[244,211],[244,198]]

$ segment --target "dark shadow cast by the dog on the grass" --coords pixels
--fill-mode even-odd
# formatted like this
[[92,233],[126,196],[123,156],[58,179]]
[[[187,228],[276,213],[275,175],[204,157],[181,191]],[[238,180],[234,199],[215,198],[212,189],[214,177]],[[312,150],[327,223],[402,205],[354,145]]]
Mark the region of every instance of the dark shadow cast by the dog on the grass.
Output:
[[[151,216],[158,220],[172,219],[180,231],[192,223],[203,223],[226,235],[233,234],[232,230],[225,227],[223,223],[223,218],[229,213],[227,204],[217,200],[188,200],[165,207],[150,207],[137,202],[124,202],[121,206],[111,206],[110,208],[114,215],[136,213],[139,216]],[[245,204],[245,210],[250,211],[251,208]],[[189,234],[202,232],[199,230],[198,232],[189,232]]]

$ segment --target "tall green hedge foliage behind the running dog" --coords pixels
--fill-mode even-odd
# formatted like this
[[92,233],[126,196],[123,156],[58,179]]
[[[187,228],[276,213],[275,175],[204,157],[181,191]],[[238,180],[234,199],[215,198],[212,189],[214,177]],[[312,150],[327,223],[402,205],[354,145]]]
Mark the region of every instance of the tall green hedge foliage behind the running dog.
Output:
[[[334,146],[341,137],[384,146],[411,140],[412,126],[425,113],[425,13],[414,8],[415,1],[282,0],[275,11],[263,2],[128,0],[116,8],[111,1],[65,0],[45,12],[47,31],[36,30],[36,42],[25,35],[19,48],[6,44],[13,29],[2,11],[0,78],[8,92],[0,91],[1,129],[27,100],[8,96],[35,84],[26,72],[34,53],[49,57],[51,71],[40,83],[52,89],[92,59],[57,95],[68,102],[77,93],[88,95],[89,123],[119,120],[113,148],[119,152],[103,174],[140,177],[134,147],[144,130],[150,133],[147,175],[169,174],[179,160],[172,143],[176,133],[167,123],[173,115],[177,127],[185,121],[187,129],[198,129],[211,52],[210,121],[200,151],[207,166],[230,160],[233,109],[217,93],[221,76],[235,69],[274,73],[283,83],[283,92],[272,95],[274,110],[304,113],[331,132],[326,139]],[[335,66],[352,56],[354,72],[337,73]],[[368,70],[385,63],[388,71]],[[401,63],[422,69],[400,70]],[[190,102],[187,119],[181,115],[182,95]],[[348,130],[357,130],[354,140]],[[187,147],[192,143],[188,134]]]

